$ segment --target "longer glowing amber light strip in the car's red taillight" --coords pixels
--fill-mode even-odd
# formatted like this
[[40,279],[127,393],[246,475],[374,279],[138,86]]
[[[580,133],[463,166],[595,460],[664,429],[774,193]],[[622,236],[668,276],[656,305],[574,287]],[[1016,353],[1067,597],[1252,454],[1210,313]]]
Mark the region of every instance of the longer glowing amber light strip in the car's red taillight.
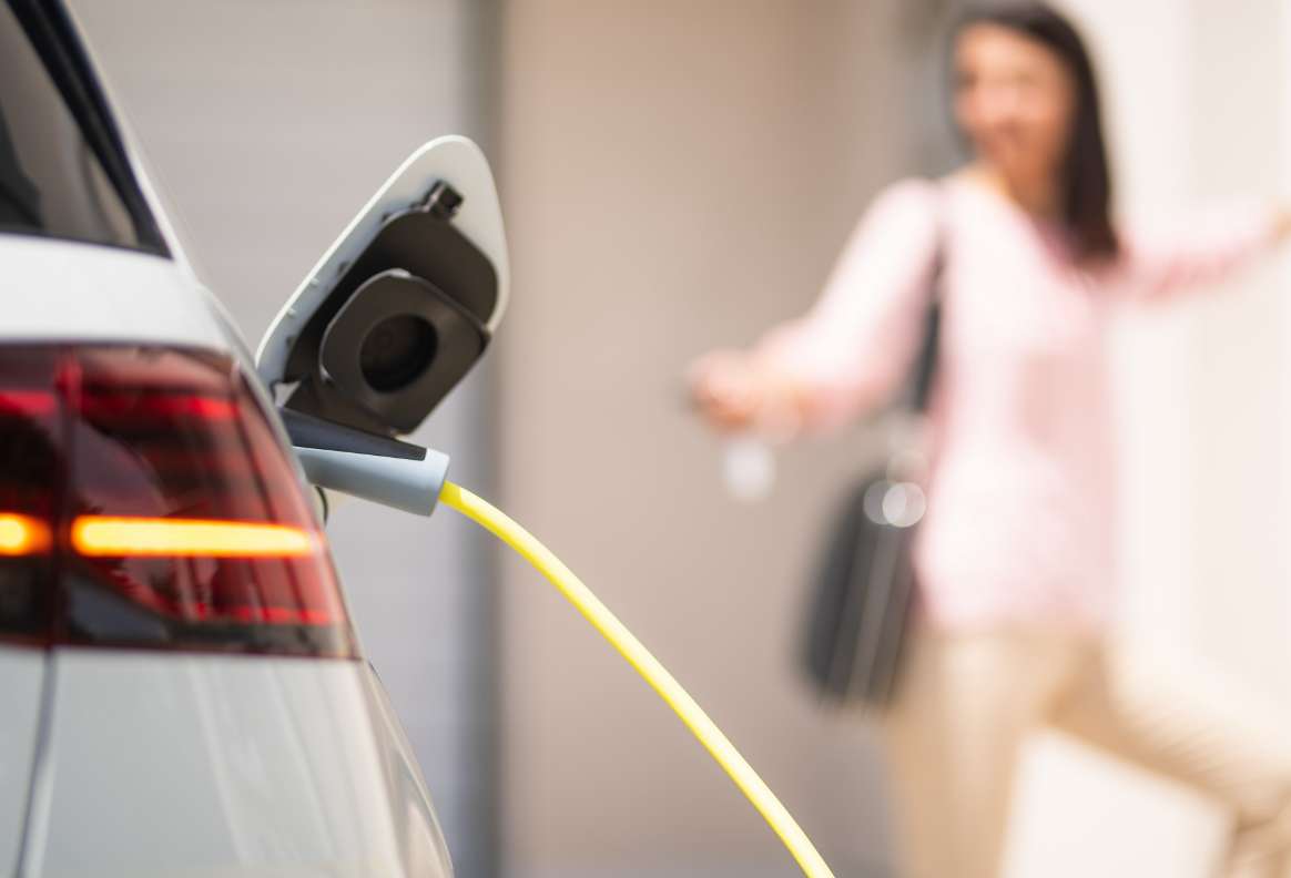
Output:
[[90,558],[300,558],[318,550],[314,536],[297,527],[198,518],[81,515],[71,540]]

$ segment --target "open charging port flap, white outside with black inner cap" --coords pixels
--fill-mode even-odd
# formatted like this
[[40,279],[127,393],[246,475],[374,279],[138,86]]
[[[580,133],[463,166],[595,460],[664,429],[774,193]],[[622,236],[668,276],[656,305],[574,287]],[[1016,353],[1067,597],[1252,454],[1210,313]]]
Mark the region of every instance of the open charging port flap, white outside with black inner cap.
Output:
[[483,356],[509,285],[488,161],[466,138],[431,141],[283,306],[257,371],[289,412],[405,435]]

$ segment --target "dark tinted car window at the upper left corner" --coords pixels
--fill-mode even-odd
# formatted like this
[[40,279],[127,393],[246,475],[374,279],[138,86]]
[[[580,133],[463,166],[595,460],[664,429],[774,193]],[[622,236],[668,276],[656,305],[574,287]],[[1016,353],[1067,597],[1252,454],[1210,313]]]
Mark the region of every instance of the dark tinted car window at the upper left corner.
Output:
[[[9,4],[0,5],[0,232],[139,247],[121,192]],[[151,249],[151,248],[150,248]]]

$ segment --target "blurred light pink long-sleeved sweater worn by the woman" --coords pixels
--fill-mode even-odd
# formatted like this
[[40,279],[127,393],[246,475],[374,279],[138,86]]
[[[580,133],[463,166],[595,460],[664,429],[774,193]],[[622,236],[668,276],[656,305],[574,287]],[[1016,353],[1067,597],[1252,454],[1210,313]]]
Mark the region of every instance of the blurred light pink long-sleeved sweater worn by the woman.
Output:
[[914,558],[923,611],[942,628],[1101,629],[1115,580],[1110,311],[1225,276],[1272,245],[1273,214],[1157,241],[1122,232],[1118,263],[1090,274],[1057,229],[980,183],[900,182],[862,218],[811,312],[759,346],[806,389],[813,426],[883,404],[906,378],[939,223],[933,469]]

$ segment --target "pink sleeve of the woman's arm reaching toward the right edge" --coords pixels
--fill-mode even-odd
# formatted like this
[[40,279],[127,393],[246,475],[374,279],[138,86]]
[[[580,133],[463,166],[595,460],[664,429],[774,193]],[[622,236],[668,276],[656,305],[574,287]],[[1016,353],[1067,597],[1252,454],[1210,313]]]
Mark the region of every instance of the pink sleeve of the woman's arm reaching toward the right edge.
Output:
[[1193,220],[1175,230],[1124,234],[1126,289],[1136,298],[1164,300],[1237,274],[1277,243],[1277,214],[1246,207]]

